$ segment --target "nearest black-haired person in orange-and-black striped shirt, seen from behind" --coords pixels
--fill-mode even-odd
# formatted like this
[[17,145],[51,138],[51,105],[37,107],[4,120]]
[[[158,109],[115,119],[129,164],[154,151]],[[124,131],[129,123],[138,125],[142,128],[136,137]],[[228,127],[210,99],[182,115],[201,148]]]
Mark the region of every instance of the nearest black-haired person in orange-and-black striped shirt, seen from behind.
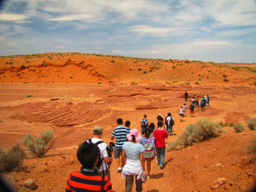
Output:
[[98,146],[86,141],[79,146],[76,156],[83,167],[80,172],[73,171],[69,175],[66,192],[112,192],[110,179],[106,175],[101,176],[95,169],[99,153]]

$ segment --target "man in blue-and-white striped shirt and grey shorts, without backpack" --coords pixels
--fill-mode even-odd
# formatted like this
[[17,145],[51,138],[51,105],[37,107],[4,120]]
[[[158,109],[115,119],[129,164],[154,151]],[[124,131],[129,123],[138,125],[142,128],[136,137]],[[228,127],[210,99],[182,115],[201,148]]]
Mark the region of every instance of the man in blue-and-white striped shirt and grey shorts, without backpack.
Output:
[[120,155],[122,154],[123,144],[126,140],[126,135],[129,134],[130,129],[123,126],[123,119],[121,118],[118,118],[116,120],[116,123],[118,126],[113,130],[111,140],[114,140],[114,138],[116,137],[114,149],[114,157],[118,166],[116,172],[122,172],[122,169],[124,167],[124,161],[122,159],[122,166],[120,166]]

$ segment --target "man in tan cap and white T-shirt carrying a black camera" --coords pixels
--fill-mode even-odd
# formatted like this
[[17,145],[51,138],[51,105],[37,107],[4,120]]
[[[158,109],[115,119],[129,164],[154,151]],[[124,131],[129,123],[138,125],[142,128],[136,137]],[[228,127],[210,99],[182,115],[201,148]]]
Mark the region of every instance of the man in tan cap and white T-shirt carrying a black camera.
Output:
[[[102,159],[102,164],[99,167],[99,173],[101,175],[107,175],[110,178],[110,172],[109,172],[109,167],[108,165],[110,165],[112,163],[113,158],[108,156],[107,153],[107,144],[100,140],[100,138],[102,137],[102,128],[100,126],[95,126],[93,128],[93,137],[91,140],[88,140],[87,142],[90,143],[90,141],[96,145],[98,145],[99,149],[100,149],[100,158]],[[107,164],[108,163],[108,164]]]

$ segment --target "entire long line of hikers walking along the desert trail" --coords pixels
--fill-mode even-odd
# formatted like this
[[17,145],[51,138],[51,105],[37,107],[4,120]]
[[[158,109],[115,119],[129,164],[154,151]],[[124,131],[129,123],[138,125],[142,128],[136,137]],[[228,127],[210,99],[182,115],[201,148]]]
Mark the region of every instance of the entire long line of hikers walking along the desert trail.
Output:
[[[194,115],[194,108],[199,110],[197,96],[190,100],[190,117]],[[185,92],[185,100],[188,101],[188,93]],[[201,97],[200,107],[203,111],[209,106],[210,96]],[[185,116],[186,104],[180,106],[179,115],[182,122]],[[142,183],[150,179],[151,162],[157,156],[157,165],[164,169],[165,139],[172,136],[174,119],[171,113],[163,118],[161,114],[156,117],[157,123],[149,123],[147,115],[140,121],[141,134],[138,129],[130,129],[131,122],[116,120],[117,127],[114,128],[111,140],[116,139],[114,145],[114,158],[116,159],[116,172],[122,173],[125,178],[125,191],[131,192],[134,176],[136,191],[142,191]],[[77,149],[77,159],[81,163],[81,171],[72,172],[67,181],[66,192],[71,191],[112,191],[110,170],[113,157],[110,147],[101,140],[103,129],[100,126],[93,128],[93,137],[82,143]],[[112,149],[113,150],[113,149]],[[109,153],[111,151],[111,153]],[[121,160],[120,160],[121,156]],[[145,165],[145,162],[147,164]],[[146,172],[147,167],[147,172]]]

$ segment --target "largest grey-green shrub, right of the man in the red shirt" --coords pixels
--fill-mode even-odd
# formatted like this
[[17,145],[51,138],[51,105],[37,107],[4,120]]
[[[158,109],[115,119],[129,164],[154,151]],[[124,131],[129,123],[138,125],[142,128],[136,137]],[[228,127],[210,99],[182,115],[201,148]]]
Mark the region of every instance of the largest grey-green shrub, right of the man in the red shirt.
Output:
[[178,136],[178,144],[184,148],[199,140],[218,137],[223,130],[219,123],[213,123],[208,118],[200,119],[195,124],[188,124],[182,135]]

